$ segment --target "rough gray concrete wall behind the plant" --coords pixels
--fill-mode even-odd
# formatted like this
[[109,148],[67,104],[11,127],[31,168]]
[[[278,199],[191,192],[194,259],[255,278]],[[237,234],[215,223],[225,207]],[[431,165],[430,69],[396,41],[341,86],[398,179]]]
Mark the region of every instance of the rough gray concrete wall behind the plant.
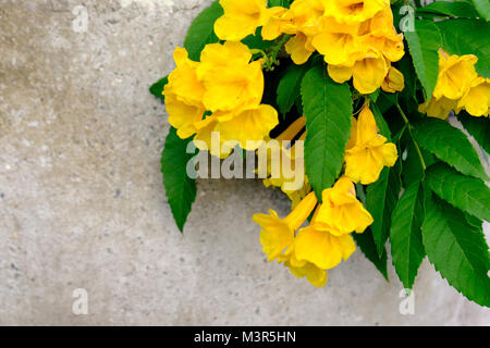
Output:
[[289,203],[260,182],[200,181],[180,235],[147,89],[207,3],[0,0],[0,324],[490,324],[427,262],[407,316],[359,251],[322,289],[266,263],[250,217]]

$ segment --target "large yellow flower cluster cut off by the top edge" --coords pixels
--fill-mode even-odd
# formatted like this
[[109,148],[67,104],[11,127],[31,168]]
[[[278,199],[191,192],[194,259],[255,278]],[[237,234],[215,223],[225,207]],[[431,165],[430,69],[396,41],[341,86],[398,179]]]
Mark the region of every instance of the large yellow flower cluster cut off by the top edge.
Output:
[[388,0],[296,0],[290,9],[267,8],[267,0],[221,0],[224,15],[215,26],[223,40],[242,40],[262,27],[262,38],[291,35],[285,49],[296,64],[318,51],[336,83],[353,78],[364,95],[382,88],[403,90],[403,75],[392,62],[404,55]]

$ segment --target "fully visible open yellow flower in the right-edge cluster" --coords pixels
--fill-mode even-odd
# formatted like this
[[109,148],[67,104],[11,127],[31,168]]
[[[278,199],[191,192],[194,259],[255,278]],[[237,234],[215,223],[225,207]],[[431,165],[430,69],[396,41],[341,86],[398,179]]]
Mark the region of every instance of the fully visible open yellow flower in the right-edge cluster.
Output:
[[478,58],[473,54],[449,55],[443,49],[439,50],[439,77],[433,97],[445,97],[457,100],[468,90],[478,74],[475,64]]

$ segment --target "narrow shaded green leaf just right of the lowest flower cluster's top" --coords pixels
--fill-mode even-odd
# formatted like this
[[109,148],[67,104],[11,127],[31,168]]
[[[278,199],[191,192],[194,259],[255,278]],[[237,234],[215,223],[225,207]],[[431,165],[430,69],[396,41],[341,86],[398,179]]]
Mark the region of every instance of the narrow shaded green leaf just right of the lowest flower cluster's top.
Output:
[[390,235],[392,214],[401,189],[400,161],[392,169],[383,169],[378,182],[366,189],[366,209],[375,219],[371,231],[378,256],[382,254]]

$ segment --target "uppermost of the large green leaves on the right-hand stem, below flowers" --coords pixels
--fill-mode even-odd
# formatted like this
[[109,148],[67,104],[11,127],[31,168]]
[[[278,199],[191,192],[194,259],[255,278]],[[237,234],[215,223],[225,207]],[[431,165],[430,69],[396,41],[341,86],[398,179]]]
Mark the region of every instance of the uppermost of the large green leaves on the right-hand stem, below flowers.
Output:
[[418,145],[463,174],[488,178],[471,142],[448,122],[427,117],[415,125],[413,134]]

